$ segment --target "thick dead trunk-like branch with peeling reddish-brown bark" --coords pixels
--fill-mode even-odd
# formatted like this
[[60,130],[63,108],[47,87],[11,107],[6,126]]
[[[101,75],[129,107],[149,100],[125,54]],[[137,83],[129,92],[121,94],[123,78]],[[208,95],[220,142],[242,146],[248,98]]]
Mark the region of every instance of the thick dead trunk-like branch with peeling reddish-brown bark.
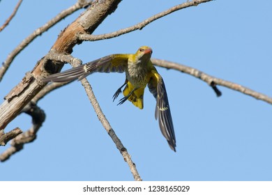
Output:
[[[96,27],[103,22],[105,17],[112,13],[120,0],[103,1],[102,3],[93,3],[85,13],[68,26],[58,37],[52,49],[59,54],[70,54],[73,52],[73,47],[80,44],[77,40],[77,32],[93,32]],[[89,24],[90,26],[88,26]],[[57,72],[63,66],[63,63],[51,61],[45,58],[40,59],[35,68],[22,79],[20,84],[15,86],[8,95],[5,101],[0,106],[0,130],[3,130],[8,123],[13,120],[20,111],[26,106],[31,99],[45,86],[45,83],[40,81],[40,77],[46,77],[49,72]]]

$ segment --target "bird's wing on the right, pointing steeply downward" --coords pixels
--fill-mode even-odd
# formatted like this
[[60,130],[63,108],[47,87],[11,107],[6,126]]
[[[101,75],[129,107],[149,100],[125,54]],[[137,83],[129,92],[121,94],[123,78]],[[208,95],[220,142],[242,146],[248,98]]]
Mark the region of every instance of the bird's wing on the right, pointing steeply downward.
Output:
[[172,122],[171,111],[167,98],[167,92],[163,78],[160,77],[158,72],[152,70],[151,79],[148,84],[149,91],[156,98],[156,111],[155,118],[158,119],[160,131],[167,139],[167,142],[172,150],[176,152],[176,137],[174,134],[174,125]]

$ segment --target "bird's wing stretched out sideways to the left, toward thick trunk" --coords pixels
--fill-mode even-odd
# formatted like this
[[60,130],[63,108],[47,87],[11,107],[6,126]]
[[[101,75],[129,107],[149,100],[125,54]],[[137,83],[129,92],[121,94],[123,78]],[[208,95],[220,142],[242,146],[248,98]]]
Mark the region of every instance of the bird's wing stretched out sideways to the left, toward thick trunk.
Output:
[[66,82],[83,79],[93,72],[124,72],[131,54],[112,54],[103,58],[84,63],[75,68],[49,75],[43,81]]

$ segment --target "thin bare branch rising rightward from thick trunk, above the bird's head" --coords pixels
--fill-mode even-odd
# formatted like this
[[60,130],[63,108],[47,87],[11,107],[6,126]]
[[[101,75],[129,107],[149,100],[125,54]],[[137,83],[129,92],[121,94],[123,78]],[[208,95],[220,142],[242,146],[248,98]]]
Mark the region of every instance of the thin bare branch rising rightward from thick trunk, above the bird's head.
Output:
[[213,1],[213,0],[194,0],[194,1],[188,1],[186,3],[181,3],[177,6],[174,6],[172,8],[169,8],[168,10],[165,10],[161,13],[158,13],[156,15],[153,15],[152,17],[149,17],[148,19],[144,20],[143,22],[140,22],[139,24],[136,24],[134,26],[130,26],[126,29],[121,29],[119,31],[115,31],[112,33],[105,33],[103,35],[90,35],[88,33],[79,33],[79,38],[80,40],[89,40],[89,41],[95,41],[95,40],[103,40],[103,39],[109,39],[109,38],[114,38],[117,36],[121,36],[126,33],[130,33],[132,31],[136,30],[142,30],[146,25],[150,24],[151,22],[154,22],[155,20],[160,19],[161,17],[165,17],[166,15],[169,15],[170,13],[173,13],[177,10],[181,10],[184,8],[188,8],[191,6],[197,6],[200,3],[206,3],[208,1]]

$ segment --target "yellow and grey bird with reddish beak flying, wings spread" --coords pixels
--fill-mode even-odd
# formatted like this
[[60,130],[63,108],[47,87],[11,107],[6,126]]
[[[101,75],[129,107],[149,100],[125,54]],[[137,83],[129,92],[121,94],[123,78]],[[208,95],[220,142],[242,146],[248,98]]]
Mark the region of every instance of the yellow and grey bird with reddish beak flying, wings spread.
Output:
[[78,65],[75,68],[48,75],[43,79],[45,82],[67,82],[81,80],[93,72],[126,72],[126,80],[113,95],[113,101],[122,93],[123,98],[119,104],[126,100],[132,102],[139,109],[144,108],[144,89],[148,86],[149,91],[156,98],[155,118],[158,120],[160,131],[167,140],[169,147],[176,152],[176,137],[174,125],[167,98],[167,91],[163,77],[160,76],[151,62],[151,47],[142,46],[135,54],[112,54],[95,61]]

